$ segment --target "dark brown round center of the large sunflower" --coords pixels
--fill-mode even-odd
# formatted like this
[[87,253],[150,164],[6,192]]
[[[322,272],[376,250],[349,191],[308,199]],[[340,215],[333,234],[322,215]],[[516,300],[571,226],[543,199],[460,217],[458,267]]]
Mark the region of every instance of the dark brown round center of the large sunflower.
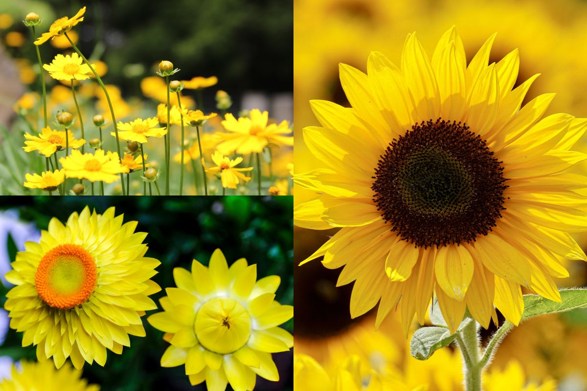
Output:
[[504,210],[501,162],[465,124],[430,120],[392,141],[373,176],[373,200],[416,246],[473,242]]

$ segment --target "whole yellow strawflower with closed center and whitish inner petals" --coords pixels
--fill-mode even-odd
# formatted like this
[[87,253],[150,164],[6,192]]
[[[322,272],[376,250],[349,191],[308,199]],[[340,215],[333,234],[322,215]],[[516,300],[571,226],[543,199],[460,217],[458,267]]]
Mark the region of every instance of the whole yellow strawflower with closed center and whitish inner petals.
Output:
[[185,364],[190,383],[206,382],[210,391],[251,391],[255,373],[277,381],[271,353],[294,345],[289,332],[278,326],[294,316],[294,307],[275,301],[278,276],[257,279],[257,265],[239,259],[229,268],[222,251],[215,250],[208,267],[194,260],[191,273],[176,267],[177,288],[166,288],[163,312],[147,321],[166,332],[170,342],[161,366]]

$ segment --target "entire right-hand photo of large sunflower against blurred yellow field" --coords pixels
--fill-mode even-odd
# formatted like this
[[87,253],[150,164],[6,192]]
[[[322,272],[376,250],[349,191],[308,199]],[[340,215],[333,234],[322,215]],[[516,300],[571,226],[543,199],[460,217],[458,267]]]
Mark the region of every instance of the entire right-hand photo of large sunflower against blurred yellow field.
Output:
[[587,390],[585,22],[294,0],[296,387]]

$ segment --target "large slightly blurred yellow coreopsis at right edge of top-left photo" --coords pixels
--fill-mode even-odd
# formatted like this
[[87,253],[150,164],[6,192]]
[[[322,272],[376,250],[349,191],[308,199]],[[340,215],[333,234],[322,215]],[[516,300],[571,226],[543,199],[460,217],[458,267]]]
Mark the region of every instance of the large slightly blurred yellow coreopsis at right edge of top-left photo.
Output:
[[219,133],[224,140],[218,145],[218,151],[223,155],[237,152],[237,154],[251,154],[262,152],[269,142],[275,144],[294,145],[293,137],[286,137],[290,134],[288,121],[278,124],[269,124],[269,113],[267,111],[251,110],[251,117],[234,118],[232,114],[226,114],[222,125],[228,133]]

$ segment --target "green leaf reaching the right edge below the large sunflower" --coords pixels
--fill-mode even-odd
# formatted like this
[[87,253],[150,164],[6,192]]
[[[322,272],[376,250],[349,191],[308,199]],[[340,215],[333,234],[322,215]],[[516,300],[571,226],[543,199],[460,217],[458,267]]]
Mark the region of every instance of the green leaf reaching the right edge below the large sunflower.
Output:
[[587,288],[561,290],[562,302],[548,300],[538,295],[524,295],[524,314],[521,321],[539,315],[587,308]]

